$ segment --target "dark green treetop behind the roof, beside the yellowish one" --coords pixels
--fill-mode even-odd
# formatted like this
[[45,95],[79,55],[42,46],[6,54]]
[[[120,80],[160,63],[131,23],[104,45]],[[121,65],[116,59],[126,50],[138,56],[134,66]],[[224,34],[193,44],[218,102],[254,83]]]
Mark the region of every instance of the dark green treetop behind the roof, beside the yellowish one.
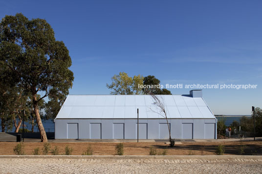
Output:
[[[160,84],[160,80],[155,78],[154,76],[147,76],[144,77],[143,81],[144,85],[158,85]],[[167,89],[160,89],[160,88],[143,88],[143,93],[147,95],[171,95],[171,92]]]

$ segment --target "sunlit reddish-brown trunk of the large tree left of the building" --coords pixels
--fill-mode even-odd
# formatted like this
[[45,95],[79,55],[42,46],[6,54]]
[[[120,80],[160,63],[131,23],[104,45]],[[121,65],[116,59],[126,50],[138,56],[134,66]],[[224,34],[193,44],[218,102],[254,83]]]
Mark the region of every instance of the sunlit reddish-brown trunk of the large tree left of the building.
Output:
[[38,108],[38,105],[37,105],[36,94],[33,94],[33,105],[34,105],[34,111],[35,111],[35,115],[36,115],[36,122],[37,122],[39,132],[40,132],[40,135],[41,135],[41,142],[45,143],[45,142],[47,142],[47,136],[46,136],[46,133],[44,131],[44,126],[43,126],[43,123],[42,123],[42,120],[41,120],[41,117],[40,117],[40,114],[39,114],[39,108]]

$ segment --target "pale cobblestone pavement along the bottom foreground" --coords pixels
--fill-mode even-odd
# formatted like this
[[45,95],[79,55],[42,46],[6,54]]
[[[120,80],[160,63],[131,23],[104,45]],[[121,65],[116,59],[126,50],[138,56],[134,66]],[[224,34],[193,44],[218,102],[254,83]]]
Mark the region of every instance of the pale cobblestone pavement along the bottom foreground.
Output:
[[260,174],[262,159],[0,159],[0,174]]

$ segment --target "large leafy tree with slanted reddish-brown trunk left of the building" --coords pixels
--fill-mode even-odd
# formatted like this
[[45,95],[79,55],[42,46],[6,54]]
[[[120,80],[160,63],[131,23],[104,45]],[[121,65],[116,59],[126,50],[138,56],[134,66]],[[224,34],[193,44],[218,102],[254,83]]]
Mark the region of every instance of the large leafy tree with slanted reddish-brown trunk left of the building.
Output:
[[55,39],[44,19],[29,20],[21,13],[5,16],[0,22],[0,61],[32,96],[41,141],[47,142],[38,103],[47,96],[67,95],[74,78],[64,42]]

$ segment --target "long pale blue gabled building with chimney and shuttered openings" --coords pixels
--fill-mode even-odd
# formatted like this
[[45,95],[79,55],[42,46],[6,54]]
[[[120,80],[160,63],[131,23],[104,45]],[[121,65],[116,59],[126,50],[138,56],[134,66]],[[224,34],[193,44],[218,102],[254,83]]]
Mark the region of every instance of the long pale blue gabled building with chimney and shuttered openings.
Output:
[[[202,98],[156,95],[168,114],[172,138],[216,139],[217,119]],[[55,118],[56,139],[168,139],[166,119],[150,95],[69,95]]]

